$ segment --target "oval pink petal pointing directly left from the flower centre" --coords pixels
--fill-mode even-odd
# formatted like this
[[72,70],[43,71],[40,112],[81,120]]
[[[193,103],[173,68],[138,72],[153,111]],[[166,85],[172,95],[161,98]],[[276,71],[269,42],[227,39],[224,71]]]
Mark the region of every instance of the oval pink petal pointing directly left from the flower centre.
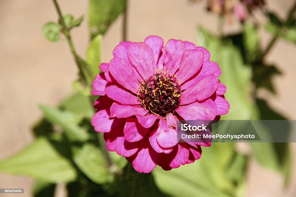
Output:
[[107,96],[125,105],[140,104],[138,97],[120,88],[118,85],[111,85],[105,88]]

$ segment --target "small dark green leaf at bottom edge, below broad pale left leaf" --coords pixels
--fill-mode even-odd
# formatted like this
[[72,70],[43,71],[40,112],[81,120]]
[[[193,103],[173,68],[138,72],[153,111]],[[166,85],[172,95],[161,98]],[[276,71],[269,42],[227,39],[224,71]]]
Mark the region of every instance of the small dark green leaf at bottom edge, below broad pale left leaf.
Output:
[[54,196],[56,184],[36,181],[33,185],[34,197],[52,197]]

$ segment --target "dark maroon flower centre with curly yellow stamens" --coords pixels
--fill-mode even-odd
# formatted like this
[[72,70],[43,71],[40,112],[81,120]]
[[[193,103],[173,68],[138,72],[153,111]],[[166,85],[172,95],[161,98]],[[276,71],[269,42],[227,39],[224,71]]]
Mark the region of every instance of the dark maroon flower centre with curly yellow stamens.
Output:
[[146,110],[154,115],[165,117],[174,113],[181,100],[180,82],[176,75],[159,71],[141,82],[138,98]]

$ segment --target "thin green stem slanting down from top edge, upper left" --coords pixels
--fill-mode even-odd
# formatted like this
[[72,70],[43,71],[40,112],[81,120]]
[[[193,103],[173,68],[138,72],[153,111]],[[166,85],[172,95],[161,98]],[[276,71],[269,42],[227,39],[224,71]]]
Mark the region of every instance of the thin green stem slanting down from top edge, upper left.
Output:
[[64,21],[64,18],[63,18],[63,15],[62,15],[62,11],[61,9],[59,8],[59,4],[57,3],[56,0],[52,0],[53,3],[54,3],[54,6],[57,10],[57,14],[59,15],[59,20],[61,22],[61,25],[62,25],[62,32],[64,33],[65,37],[66,37],[66,40],[68,42],[68,45],[70,47],[70,50],[71,50],[71,53],[73,54],[73,57],[74,57],[74,60],[76,62],[76,65],[78,66],[78,69],[80,71],[80,74],[81,74],[81,77],[83,79],[83,82],[86,84],[86,85],[90,85],[91,84],[91,80],[90,80],[90,76],[91,74],[89,73],[88,71],[88,68],[84,68],[81,64],[81,58],[79,58],[79,56],[77,55],[76,53],[76,50],[75,50],[75,47],[74,47],[74,44],[73,44],[73,41],[72,41],[72,38],[71,38],[71,35],[70,35],[70,31],[69,29],[67,28],[66,24],[65,24],[65,21]]

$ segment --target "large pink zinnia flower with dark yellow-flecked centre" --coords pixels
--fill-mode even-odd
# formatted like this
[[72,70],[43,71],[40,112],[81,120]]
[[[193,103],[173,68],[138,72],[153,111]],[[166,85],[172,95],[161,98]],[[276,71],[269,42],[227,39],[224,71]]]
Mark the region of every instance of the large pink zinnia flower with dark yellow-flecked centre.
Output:
[[203,47],[149,36],[144,42],[120,42],[114,58],[93,82],[101,95],[91,123],[104,132],[109,151],[126,157],[138,172],[164,170],[194,162],[200,146],[178,143],[176,120],[214,120],[228,113],[218,64]]

